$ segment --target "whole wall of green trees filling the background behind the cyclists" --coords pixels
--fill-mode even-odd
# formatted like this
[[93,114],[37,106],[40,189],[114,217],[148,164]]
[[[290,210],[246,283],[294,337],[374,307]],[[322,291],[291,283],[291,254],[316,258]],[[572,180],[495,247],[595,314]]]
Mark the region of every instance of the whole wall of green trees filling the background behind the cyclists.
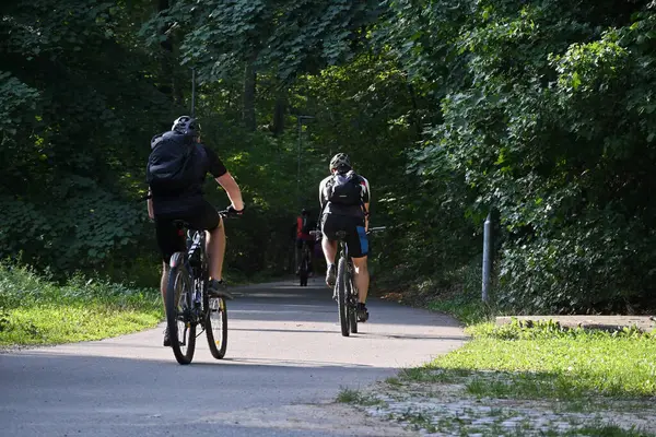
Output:
[[492,212],[502,305],[653,307],[655,8],[4,1],[0,256],[152,281],[148,144],[189,110],[195,68],[203,141],[250,205],[230,223],[233,272],[289,269],[289,226],[302,206],[318,213],[339,151],[389,226],[372,255],[380,281],[476,283]]

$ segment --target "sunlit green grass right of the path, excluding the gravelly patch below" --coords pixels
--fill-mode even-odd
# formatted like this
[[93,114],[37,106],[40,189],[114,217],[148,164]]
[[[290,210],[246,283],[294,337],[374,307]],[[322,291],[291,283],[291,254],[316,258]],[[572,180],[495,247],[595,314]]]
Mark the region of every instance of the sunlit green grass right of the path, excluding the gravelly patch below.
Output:
[[565,399],[656,395],[656,338],[566,330],[554,323],[469,329],[460,350],[406,370],[402,378],[465,382],[478,397]]

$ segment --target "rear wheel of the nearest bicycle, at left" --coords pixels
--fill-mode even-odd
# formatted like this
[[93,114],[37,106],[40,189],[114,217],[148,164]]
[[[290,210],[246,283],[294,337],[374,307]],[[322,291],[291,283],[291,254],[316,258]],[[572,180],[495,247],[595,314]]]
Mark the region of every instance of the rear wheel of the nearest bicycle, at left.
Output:
[[166,287],[166,326],[171,349],[179,364],[189,364],[196,350],[196,323],[192,320],[191,276],[183,252],[174,253]]

